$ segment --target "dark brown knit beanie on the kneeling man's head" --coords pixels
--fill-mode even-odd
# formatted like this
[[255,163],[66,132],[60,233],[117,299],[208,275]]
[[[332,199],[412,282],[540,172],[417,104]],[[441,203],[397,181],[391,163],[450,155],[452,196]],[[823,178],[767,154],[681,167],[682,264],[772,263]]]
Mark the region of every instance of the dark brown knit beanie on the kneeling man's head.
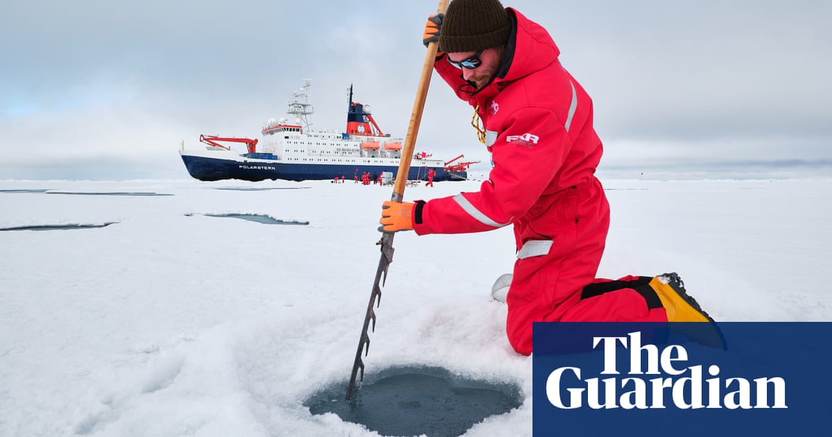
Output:
[[475,52],[502,46],[511,30],[499,0],[453,0],[442,20],[439,51]]

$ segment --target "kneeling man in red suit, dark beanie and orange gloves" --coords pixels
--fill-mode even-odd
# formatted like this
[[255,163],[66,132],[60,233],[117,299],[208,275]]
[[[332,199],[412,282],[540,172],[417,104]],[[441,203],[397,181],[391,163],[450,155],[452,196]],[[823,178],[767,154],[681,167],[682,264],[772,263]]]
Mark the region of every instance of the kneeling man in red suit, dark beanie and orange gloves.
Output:
[[595,176],[602,142],[592,100],[546,29],[498,0],[453,0],[443,16],[428,17],[423,42],[433,41],[434,68],[474,108],[493,169],[476,192],[385,201],[380,229],[423,236],[513,225],[518,260],[505,297],[506,332],[524,355],[532,352],[534,321],[709,320],[681,292],[582,293],[604,281],[595,279],[610,224]]

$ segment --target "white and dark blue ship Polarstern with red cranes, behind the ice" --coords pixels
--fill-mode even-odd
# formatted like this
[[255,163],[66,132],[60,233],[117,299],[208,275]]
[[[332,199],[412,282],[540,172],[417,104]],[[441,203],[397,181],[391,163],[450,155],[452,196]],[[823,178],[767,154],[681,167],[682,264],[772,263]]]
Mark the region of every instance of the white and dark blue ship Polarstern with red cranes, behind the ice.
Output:
[[[365,172],[381,175],[384,171],[396,174],[402,157],[403,139],[385,134],[375,122],[369,105],[353,101],[349,87],[349,107],[344,132],[323,132],[311,129],[310,116],[314,113],[309,95],[310,81],[293,93],[285,118],[270,119],[263,126],[262,141],[239,137],[200,137],[205,150],[180,151],[182,161],[191,176],[201,181],[241,179],[262,181],[354,179]],[[245,143],[247,151],[237,153],[224,143]],[[409,180],[427,180],[433,170],[433,181],[464,180],[468,166],[479,161],[450,161],[433,159],[425,152],[415,153],[408,174]]]

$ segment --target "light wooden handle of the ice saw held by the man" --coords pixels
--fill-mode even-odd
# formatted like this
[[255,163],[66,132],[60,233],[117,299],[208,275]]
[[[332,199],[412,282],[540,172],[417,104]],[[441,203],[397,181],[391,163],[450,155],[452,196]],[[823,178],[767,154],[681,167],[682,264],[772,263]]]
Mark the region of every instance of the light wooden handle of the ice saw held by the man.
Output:
[[[436,13],[445,13],[448,9],[448,0],[439,0],[439,5],[436,8]],[[396,183],[393,186],[393,201],[402,201],[404,199],[404,186],[408,181],[408,173],[410,171],[410,161],[413,160],[414,149],[416,148],[416,137],[418,136],[418,127],[422,122],[422,112],[424,110],[424,102],[428,97],[428,87],[430,86],[430,76],[433,73],[433,62],[436,61],[436,52],[438,51],[439,43],[428,43],[428,51],[424,54],[424,66],[422,67],[422,76],[418,80],[418,89],[416,90],[416,101],[414,102],[414,110],[410,114],[410,124],[408,126],[408,136],[404,138],[404,147],[402,148],[402,158],[399,161],[399,172],[396,174]]]

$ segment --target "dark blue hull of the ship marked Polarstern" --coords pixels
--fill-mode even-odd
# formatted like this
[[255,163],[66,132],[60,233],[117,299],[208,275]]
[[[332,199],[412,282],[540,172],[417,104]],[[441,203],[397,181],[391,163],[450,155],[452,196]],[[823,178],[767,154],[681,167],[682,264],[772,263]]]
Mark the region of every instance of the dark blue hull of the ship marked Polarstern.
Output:
[[[364,171],[377,176],[382,171],[390,171],[396,176],[399,166],[384,166],[371,164],[301,164],[268,160],[236,161],[226,158],[212,158],[206,156],[182,155],[182,161],[191,176],[200,181],[221,181],[224,179],[240,179],[242,181],[264,181],[266,179],[283,179],[286,181],[324,181],[334,180],[335,177],[353,180],[359,179]],[[358,171],[356,171],[356,168]],[[408,180],[428,180],[428,170],[433,168],[436,175],[433,181],[463,181],[468,177],[466,171],[446,171],[441,166],[410,166]]]

